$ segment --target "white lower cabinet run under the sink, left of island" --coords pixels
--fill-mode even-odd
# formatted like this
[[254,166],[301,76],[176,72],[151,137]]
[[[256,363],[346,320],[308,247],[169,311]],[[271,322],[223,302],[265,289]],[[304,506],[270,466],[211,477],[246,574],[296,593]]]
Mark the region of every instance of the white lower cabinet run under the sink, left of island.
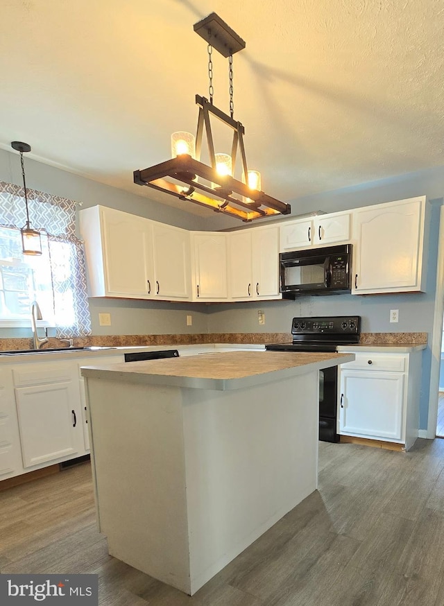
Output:
[[116,362],[123,354],[2,365],[0,482],[89,453],[80,367]]

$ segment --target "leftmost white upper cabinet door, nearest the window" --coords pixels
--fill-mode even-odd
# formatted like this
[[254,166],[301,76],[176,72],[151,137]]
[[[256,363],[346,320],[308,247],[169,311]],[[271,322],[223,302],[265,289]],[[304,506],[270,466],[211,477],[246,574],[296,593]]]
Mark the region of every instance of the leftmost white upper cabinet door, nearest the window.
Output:
[[148,219],[101,209],[107,294],[149,298],[155,292]]

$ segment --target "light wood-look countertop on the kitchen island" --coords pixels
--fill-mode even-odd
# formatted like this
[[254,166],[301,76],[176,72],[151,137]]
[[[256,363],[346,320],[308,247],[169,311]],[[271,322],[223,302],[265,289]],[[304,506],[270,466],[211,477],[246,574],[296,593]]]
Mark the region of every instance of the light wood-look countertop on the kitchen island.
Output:
[[130,383],[232,390],[321,370],[354,359],[354,354],[325,352],[227,352],[85,366],[82,374],[88,378]]

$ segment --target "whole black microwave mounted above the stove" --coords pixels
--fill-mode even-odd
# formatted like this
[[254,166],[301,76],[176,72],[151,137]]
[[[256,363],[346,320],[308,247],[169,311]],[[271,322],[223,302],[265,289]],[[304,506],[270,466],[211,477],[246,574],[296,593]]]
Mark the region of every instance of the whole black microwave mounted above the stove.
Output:
[[279,261],[284,299],[351,292],[351,244],[281,252]]

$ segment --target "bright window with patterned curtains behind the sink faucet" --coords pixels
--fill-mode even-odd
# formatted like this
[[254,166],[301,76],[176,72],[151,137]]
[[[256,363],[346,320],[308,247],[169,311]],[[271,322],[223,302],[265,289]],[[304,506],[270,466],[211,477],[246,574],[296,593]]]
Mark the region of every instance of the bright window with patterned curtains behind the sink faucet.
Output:
[[21,187],[0,182],[0,325],[25,320],[36,300],[56,336],[91,332],[83,247],[75,234],[76,203],[27,190],[31,223],[42,234],[42,255],[22,253],[26,221]]

